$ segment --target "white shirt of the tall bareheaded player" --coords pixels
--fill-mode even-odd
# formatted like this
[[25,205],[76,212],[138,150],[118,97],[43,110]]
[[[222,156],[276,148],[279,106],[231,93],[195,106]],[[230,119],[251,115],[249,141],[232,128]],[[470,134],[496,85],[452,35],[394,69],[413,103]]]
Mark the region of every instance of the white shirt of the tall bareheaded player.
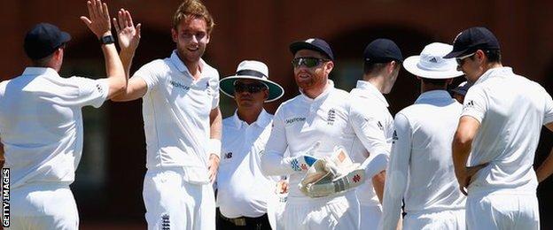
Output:
[[185,166],[184,180],[205,183],[209,113],[219,103],[219,73],[200,59],[201,77],[173,51],[170,58],[142,66],[134,77],[148,86],[143,97],[146,167]]

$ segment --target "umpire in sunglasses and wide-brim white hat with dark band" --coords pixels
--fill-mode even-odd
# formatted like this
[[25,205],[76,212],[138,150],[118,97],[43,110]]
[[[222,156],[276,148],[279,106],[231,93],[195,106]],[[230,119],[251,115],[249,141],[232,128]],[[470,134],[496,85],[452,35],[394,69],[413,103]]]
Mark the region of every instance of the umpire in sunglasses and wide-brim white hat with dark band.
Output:
[[263,104],[284,95],[269,80],[269,68],[243,61],[236,75],[220,81],[223,94],[234,98],[238,110],[222,120],[222,159],[217,173],[217,229],[270,229],[268,203],[279,178],[261,173],[261,155],[269,139],[273,115]]

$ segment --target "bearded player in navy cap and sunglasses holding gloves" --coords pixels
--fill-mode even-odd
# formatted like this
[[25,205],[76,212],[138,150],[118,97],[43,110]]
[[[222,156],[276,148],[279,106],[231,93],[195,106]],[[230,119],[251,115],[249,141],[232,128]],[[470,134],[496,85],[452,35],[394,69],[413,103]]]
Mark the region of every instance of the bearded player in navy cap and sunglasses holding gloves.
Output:
[[[278,108],[261,157],[266,175],[290,175],[284,229],[357,229],[360,216],[354,190],[310,198],[298,188],[317,158],[330,157],[338,145],[351,151],[355,134],[348,120],[347,92],[334,88],[328,80],[334,67],[329,44],[310,38],[293,42],[290,50],[294,80],[301,94]],[[320,145],[314,150],[317,142]],[[284,157],[286,148],[290,157]]]

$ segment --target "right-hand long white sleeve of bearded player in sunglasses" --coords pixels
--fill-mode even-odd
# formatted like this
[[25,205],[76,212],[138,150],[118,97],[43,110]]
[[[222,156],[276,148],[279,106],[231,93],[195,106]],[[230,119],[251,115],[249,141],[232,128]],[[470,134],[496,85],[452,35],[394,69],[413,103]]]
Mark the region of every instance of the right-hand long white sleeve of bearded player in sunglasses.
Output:
[[365,175],[370,178],[377,173],[386,170],[390,147],[386,142],[385,119],[374,113],[367,113],[354,105],[349,112],[349,120],[354,128],[354,133],[369,151],[369,157],[363,161],[362,167]]

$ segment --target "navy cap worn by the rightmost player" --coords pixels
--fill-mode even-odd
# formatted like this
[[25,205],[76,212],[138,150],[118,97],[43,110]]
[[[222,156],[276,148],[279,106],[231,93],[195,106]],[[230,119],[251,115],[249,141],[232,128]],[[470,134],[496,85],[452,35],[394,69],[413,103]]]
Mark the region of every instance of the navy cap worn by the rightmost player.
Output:
[[476,50],[499,50],[497,38],[485,27],[463,30],[453,41],[453,50],[444,58],[457,58]]

